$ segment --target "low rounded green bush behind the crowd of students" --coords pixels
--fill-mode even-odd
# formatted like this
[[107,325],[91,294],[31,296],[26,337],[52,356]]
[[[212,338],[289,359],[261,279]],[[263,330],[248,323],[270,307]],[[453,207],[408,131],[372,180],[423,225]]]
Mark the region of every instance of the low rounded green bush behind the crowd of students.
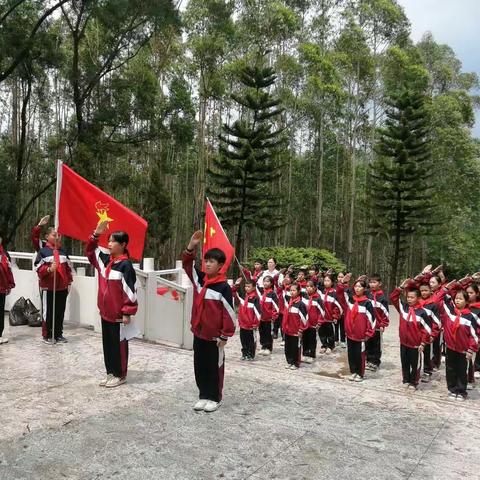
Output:
[[269,258],[275,258],[278,267],[286,268],[293,265],[294,268],[316,265],[320,270],[333,268],[336,272],[345,271],[345,264],[335,254],[320,248],[298,247],[258,247],[249,252],[249,264],[260,258],[265,262]]

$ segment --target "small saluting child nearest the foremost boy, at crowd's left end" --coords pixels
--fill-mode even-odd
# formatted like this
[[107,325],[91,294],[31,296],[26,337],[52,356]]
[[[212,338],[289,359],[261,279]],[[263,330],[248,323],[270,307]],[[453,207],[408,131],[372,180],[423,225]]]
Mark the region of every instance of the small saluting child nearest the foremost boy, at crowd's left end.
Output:
[[242,344],[242,360],[253,360],[257,348],[257,331],[262,316],[262,307],[255,290],[253,280],[245,280],[245,297],[238,294],[238,287],[242,279],[239,278],[232,287],[240,307],[238,309],[238,326],[240,327],[240,342]]

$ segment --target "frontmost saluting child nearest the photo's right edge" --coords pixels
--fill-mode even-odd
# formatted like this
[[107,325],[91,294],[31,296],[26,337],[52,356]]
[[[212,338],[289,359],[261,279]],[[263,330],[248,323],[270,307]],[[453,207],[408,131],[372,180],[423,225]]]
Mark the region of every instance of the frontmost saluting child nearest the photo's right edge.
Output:
[[454,283],[450,282],[442,288],[440,294],[443,300],[440,309],[445,313],[442,323],[446,345],[446,378],[449,396],[465,400],[468,362],[478,351],[478,327],[475,315],[468,308],[467,292],[452,289]]

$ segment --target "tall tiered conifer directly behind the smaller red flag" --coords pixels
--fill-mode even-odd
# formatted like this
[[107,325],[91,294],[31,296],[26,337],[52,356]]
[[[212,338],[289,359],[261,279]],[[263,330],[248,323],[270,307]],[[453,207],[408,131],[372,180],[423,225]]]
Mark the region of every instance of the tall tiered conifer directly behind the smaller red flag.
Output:
[[240,71],[243,86],[231,98],[238,104],[240,116],[223,126],[219,154],[209,169],[207,190],[222,223],[236,227],[235,248],[243,255],[247,228],[272,230],[280,227],[280,200],[272,198],[273,181],[282,173],[281,154],[286,139],[283,128],[276,126],[283,108],[271,92],[274,70],[264,58]]

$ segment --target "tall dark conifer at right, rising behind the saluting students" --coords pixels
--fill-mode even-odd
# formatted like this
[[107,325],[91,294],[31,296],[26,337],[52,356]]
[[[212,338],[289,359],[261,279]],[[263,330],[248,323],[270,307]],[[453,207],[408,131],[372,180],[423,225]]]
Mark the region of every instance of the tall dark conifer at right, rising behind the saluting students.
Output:
[[392,242],[390,285],[396,285],[400,261],[411,235],[426,233],[434,224],[426,97],[414,88],[390,94],[387,120],[375,146],[371,166],[370,227]]

